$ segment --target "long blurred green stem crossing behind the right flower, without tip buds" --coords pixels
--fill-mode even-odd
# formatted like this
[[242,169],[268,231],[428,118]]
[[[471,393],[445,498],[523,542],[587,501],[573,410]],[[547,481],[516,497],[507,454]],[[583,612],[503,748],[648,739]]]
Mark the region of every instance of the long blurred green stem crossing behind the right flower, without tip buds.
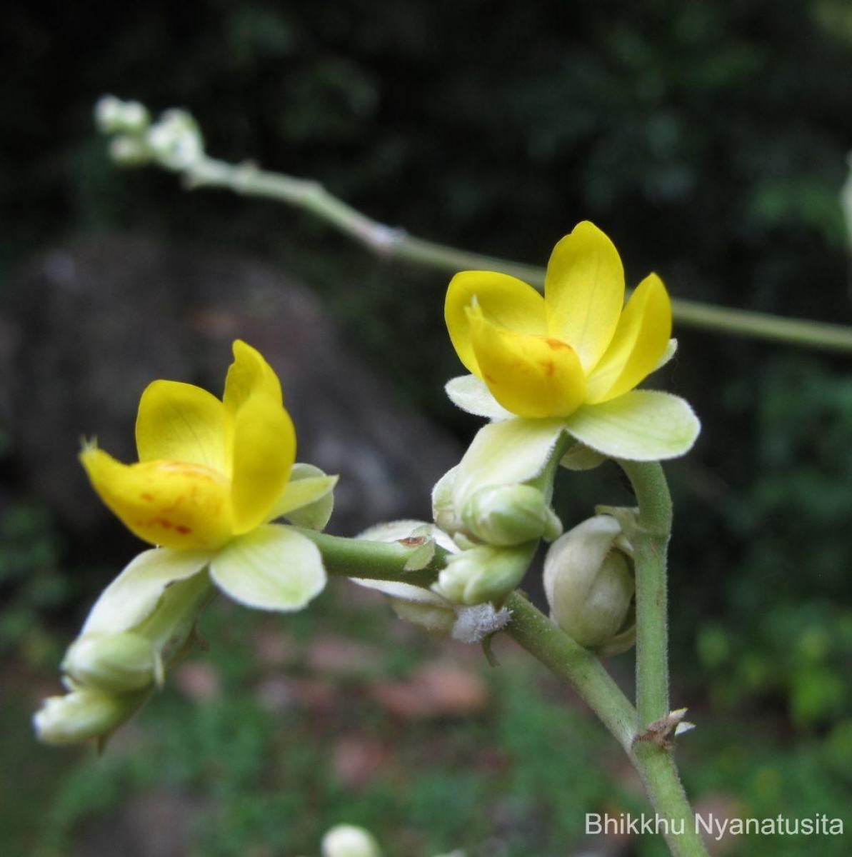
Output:
[[[541,289],[542,267],[495,256],[470,253],[422,238],[403,229],[379,223],[329,194],[318,182],[259,169],[254,164],[228,164],[202,156],[183,171],[189,188],[225,188],[234,193],[285,202],[325,220],[336,230],[364,244],[382,259],[435,268],[447,273],[465,270],[499,271]],[[852,327],[821,321],[787,319],[747,309],[677,299],[672,301],[675,321],[714,333],[747,336],[769,342],[852,353]]]

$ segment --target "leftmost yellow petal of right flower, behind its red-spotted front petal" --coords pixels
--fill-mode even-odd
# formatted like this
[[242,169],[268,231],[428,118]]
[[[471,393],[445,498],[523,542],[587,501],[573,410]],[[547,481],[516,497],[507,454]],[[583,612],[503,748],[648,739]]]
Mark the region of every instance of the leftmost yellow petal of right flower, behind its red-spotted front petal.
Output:
[[450,280],[444,318],[459,360],[474,375],[479,372],[471,343],[466,308],[476,297],[479,306],[495,324],[517,333],[547,334],[543,297],[523,280],[494,271],[463,271]]

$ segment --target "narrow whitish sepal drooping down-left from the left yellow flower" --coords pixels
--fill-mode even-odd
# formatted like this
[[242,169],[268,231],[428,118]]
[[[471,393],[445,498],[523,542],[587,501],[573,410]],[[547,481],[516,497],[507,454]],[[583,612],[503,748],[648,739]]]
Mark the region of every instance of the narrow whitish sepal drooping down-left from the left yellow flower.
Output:
[[153,612],[167,586],[191,578],[212,556],[208,550],[172,548],[153,548],[139,554],[95,602],[81,636],[129,631]]

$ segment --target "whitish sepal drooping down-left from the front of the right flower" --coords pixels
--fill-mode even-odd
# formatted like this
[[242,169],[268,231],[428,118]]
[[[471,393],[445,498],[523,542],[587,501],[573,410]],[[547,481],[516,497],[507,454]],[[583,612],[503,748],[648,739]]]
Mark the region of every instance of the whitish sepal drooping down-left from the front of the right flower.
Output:
[[456,469],[453,508],[460,512],[480,488],[538,476],[564,428],[563,417],[516,418],[480,428]]

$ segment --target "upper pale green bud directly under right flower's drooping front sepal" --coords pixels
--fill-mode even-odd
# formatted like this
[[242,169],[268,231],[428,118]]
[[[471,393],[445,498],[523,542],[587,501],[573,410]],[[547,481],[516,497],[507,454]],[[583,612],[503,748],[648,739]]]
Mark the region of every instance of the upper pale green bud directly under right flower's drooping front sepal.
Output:
[[531,485],[492,485],[471,495],[461,513],[474,536],[508,546],[561,534],[562,524],[544,494]]

